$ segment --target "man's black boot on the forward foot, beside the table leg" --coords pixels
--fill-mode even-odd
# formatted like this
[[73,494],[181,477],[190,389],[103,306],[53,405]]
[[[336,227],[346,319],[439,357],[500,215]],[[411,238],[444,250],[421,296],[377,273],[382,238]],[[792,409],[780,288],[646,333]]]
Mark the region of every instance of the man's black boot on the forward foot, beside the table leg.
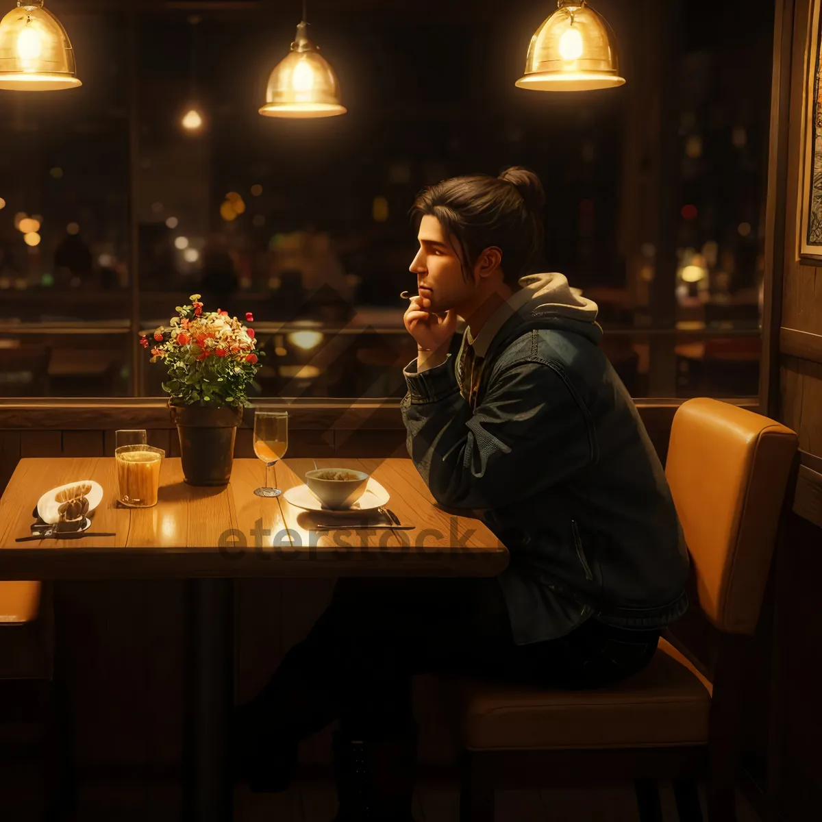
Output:
[[254,793],[287,791],[297,766],[297,740],[266,731],[266,706],[258,700],[234,709],[231,755],[234,777]]

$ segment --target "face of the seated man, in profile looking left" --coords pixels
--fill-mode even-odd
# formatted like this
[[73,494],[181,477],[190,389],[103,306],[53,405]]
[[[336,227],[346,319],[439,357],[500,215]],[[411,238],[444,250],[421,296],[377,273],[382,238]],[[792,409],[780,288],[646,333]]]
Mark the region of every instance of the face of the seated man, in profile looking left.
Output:
[[428,310],[441,313],[470,303],[473,282],[465,281],[459,252],[446,237],[440,221],[424,215],[417,239],[419,251],[409,270],[417,275],[419,295],[431,300]]

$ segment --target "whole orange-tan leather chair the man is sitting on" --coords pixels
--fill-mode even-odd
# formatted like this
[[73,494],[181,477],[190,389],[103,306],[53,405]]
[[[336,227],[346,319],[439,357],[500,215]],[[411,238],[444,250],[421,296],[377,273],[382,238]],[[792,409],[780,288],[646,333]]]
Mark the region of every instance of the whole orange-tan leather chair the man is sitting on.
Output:
[[735,819],[736,694],[745,640],[764,595],[797,435],[714,399],[673,421],[666,474],[690,551],[698,603],[721,649],[709,681],[665,639],[649,667],[616,686],[540,691],[451,682],[463,751],[462,822],[491,822],[494,788],[634,780],[640,820],[661,820],[657,780],[672,779],[681,820]]

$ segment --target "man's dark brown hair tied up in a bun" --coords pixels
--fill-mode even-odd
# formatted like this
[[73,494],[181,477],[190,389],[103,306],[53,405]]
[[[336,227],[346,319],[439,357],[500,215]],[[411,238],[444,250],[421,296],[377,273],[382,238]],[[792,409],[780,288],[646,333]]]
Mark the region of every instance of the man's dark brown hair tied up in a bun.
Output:
[[462,253],[465,279],[477,257],[496,246],[502,252],[506,283],[529,273],[543,251],[543,184],[533,171],[511,166],[500,174],[470,174],[437,182],[420,192],[411,213],[417,225],[424,215],[440,221]]

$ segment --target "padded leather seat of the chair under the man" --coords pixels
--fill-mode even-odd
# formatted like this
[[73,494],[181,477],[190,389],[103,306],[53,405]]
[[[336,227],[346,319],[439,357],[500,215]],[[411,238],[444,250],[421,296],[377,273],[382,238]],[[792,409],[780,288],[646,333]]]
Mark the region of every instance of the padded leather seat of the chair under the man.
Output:
[[460,680],[468,750],[552,750],[706,744],[711,685],[666,640],[648,667],[608,688],[535,690]]

